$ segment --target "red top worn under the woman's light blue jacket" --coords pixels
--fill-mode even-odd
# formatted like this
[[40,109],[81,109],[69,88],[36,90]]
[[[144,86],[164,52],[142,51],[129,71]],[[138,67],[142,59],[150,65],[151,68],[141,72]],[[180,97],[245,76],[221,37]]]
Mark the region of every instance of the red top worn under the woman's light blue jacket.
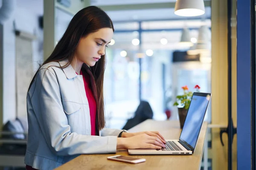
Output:
[[96,135],[96,113],[97,113],[97,103],[93,96],[93,91],[90,88],[90,77],[88,74],[84,75],[82,72],[80,74],[83,76],[84,89],[88,99],[89,109],[90,109],[90,122],[91,122],[91,135]]

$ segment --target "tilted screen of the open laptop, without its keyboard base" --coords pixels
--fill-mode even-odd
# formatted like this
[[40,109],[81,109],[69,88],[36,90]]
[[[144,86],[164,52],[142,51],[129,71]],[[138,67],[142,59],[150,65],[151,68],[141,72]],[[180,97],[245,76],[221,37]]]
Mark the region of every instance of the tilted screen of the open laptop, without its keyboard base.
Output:
[[204,121],[204,114],[210,100],[210,94],[194,93],[189,105],[180,140],[195,149],[199,132]]

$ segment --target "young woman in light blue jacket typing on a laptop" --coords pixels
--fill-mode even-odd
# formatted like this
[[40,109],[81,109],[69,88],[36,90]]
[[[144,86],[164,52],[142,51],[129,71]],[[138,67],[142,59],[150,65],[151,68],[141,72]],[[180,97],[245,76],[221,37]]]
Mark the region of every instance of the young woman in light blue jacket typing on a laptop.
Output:
[[54,169],[80,154],[164,147],[158,132],[104,128],[105,47],[113,31],[100,8],[81,9],[36,72],[27,94],[28,170]]

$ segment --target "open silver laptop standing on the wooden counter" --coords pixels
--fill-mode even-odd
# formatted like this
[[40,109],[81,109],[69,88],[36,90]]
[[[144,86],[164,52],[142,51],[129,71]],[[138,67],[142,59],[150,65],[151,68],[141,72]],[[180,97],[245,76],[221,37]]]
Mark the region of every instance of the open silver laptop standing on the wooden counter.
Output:
[[193,93],[179,140],[166,140],[166,147],[162,149],[128,149],[128,153],[131,155],[193,154],[211,96],[210,93]]

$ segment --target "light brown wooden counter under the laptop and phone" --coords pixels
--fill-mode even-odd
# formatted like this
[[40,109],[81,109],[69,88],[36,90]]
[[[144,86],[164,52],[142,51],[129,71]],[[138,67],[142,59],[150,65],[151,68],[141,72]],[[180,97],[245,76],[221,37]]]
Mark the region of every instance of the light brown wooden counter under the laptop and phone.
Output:
[[[165,139],[179,139],[181,132],[179,121],[154,121],[151,119],[131,128],[129,132],[146,130],[159,131]],[[199,170],[206,131],[207,122],[204,122],[193,155],[128,155],[127,150],[118,150],[116,154],[81,155],[58,167],[57,170]],[[145,158],[146,161],[139,164],[128,164],[107,160],[108,156],[114,155]]]

